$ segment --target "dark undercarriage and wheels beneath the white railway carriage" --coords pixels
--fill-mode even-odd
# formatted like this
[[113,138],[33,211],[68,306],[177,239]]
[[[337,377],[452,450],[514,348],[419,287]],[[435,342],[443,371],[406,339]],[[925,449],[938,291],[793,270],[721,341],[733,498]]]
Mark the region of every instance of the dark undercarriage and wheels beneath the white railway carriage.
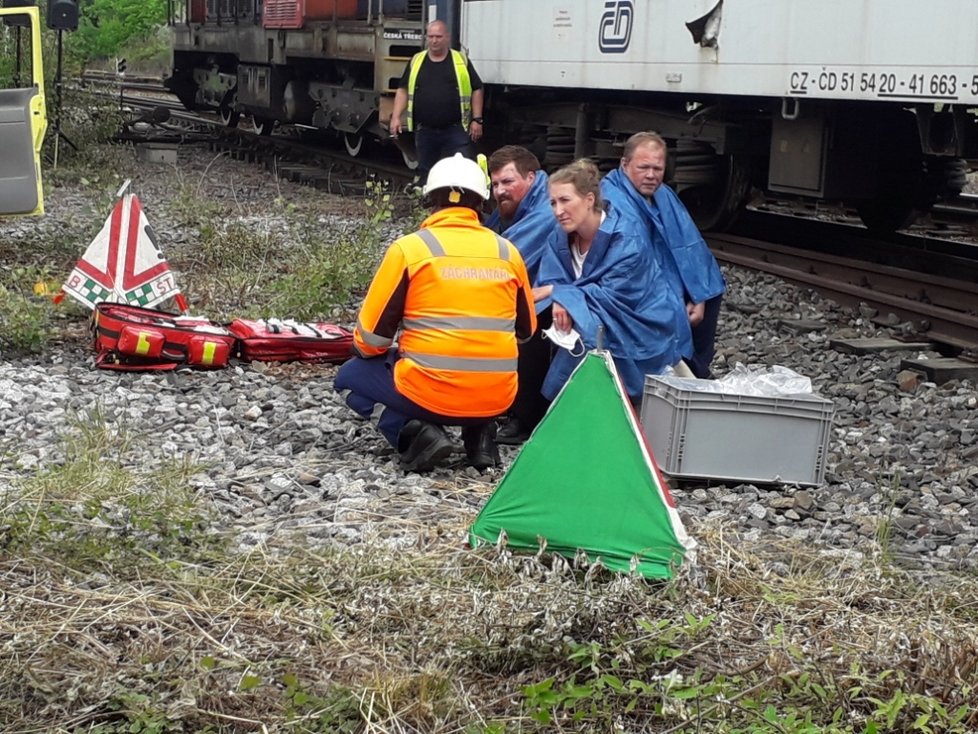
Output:
[[958,195],[978,157],[978,123],[961,108],[663,95],[626,102],[585,90],[549,99],[541,90],[490,94],[487,108],[504,110],[506,121],[493,143],[519,140],[546,168],[590,157],[610,170],[630,134],[659,132],[670,146],[667,180],[702,229],[729,226],[757,192],[841,202],[870,229],[901,229]]

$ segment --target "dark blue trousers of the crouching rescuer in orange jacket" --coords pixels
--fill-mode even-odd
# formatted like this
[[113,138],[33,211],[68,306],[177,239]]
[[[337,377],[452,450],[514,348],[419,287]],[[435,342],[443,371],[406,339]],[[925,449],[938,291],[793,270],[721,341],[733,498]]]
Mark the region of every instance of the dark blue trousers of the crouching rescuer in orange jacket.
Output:
[[397,435],[404,425],[415,418],[428,423],[448,426],[481,426],[487,418],[459,418],[440,415],[418,405],[397,391],[394,384],[394,362],[397,355],[364,359],[353,357],[340,367],[333,381],[336,390],[349,390],[346,404],[364,418],[370,418],[374,406],[385,406],[377,428],[388,443],[397,448]]

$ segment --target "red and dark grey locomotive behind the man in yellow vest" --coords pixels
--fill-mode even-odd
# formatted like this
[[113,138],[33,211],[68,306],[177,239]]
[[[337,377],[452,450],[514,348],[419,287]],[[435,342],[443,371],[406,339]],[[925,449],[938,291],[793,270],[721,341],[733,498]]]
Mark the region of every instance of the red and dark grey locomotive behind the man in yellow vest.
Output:
[[[423,0],[186,0],[169,5],[166,86],[187,109],[336,133],[359,155],[386,137],[404,65],[424,42]],[[415,166],[413,151],[405,163]]]

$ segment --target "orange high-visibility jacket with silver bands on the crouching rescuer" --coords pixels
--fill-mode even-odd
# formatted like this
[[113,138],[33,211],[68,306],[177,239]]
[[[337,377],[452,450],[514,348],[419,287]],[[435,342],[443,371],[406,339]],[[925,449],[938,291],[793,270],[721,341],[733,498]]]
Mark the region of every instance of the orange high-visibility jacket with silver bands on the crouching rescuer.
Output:
[[519,250],[466,207],[442,209],[384,255],[353,332],[364,357],[398,329],[394,384],[435,413],[492,417],[516,397],[517,339],[536,330]]

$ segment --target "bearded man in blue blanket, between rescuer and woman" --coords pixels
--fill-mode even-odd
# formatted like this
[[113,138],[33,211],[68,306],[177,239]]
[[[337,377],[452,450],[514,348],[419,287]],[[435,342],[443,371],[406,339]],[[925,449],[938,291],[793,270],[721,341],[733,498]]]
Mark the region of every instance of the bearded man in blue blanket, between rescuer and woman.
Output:
[[[550,211],[547,174],[529,150],[505,145],[489,157],[489,176],[496,209],[486,220],[486,226],[516,245],[526,263],[530,283],[536,285],[547,241],[559,229]],[[538,322],[541,329],[550,326],[549,310],[538,316]],[[496,434],[497,443],[523,443],[547,412],[550,401],[540,388],[550,367],[551,348],[541,331],[520,344],[519,392],[510,409],[509,421]]]

